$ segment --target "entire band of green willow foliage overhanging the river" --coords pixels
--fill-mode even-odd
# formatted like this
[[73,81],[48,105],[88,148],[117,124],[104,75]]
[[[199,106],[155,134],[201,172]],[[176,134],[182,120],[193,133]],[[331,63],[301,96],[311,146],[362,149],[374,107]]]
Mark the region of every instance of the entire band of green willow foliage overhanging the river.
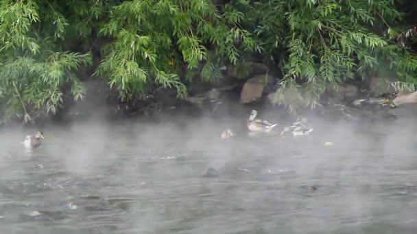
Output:
[[[348,79],[396,77],[414,88],[414,1],[393,0],[1,0],[0,103],[5,118],[55,113],[82,79],[108,80],[121,101],[160,86],[187,96],[195,79],[257,55],[306,105]],[[414,39],[414,40],[413,40]],[[80,70],[89,70],[79,77]],[[78,75],[77,75],[78,74]],[[82,78],[82,79],[81,79]],[[278,79],[278,77],[277,77]]]

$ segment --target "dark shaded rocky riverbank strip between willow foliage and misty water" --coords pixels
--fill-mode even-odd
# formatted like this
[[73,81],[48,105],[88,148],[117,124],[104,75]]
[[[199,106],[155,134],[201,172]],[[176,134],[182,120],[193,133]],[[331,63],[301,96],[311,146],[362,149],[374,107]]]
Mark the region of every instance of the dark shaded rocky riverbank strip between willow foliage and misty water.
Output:
[[[29,113],[27,122],[24,116],[16,116],[7,125],[43,127],[96,120],[159,123],[169,122],[174,117],[211,118],[221,124],[226,118],[245,122],[252,109],[257,109],[261,118],[272,122],[291,122],[299,116],[351,121],[396,120],[417,116],[416,93],[390,96],[390,92],[396,90],[386,86],[386,81],[382,79],[329,88],[315,108],[302,107],[298,103],[296,112],[291,113],[287,105],[273,103],[275,82],[271,82],[273,77],[265,73],[266,68],[262,68],[252,69],[243,80],[233,78],[233,73],[228,72],[230,78],[222,82],[193,83],[185,99],[178,99],[174,89],[156,88],[141,99],[124,103],[119,101],[117,92],[111,90],[104,79],[91,77],[83,82],[86,96],[82,101],[73,101],[71,95],[66,94],[67,90],[64,92],[64,105],[57,114],[48,115],[45,109],[41,109]],[[264,79],[269,81],[264,82]],[[394,108],[390,106],[392,103],[395,104]],[[3,122],[0,125],[7,126]]]

